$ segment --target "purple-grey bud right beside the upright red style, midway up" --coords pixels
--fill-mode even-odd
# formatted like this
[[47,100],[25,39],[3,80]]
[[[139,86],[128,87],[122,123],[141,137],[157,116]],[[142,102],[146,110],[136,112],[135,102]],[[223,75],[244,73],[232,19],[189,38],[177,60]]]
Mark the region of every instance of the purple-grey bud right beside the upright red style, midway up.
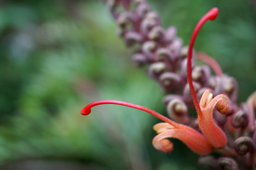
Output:
[[196,65],[192,70],[192,79],[201,85],[206,85],[211,75],[211,70],[207,65]]

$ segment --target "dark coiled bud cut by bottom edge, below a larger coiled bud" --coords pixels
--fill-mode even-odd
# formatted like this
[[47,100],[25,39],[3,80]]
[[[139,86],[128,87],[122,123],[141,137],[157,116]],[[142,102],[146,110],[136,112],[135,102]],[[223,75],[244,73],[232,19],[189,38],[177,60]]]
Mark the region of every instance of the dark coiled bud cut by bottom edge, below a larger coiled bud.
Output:
[[218,170],[238,170],[236,161],[230,157],[221,157],[217,160]]

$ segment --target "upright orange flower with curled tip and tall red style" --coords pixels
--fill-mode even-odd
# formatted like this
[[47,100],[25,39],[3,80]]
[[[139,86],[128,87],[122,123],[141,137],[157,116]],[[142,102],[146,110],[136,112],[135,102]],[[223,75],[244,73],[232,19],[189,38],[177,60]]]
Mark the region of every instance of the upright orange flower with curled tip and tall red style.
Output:
[[230,105],[230,99],[224,94],[219,94],[218,96],[215,96],[214,99],[212,99],[213,95],[208,89],[204,92],[199,104],[195,93],[195,88],[192,83],[191,74],[192,48],[195,42],[195,38],[203,24],[207,20],[215,20],[217,15],[218,8],[212,8],[207,14],[204,15],[204,17],[201,18],[201,20],[195,27],[195,30],[189,42],[187,77],[195,108],[198,112],[198,122],[202,133],[207,138],[209,143],[212,144],[213,147],[222,148],[227,144],[227,137],[225,133],[221,130],[221,128],[218,127],[218,125],[214,122],[212,114],[215,107],[221,114],[229,114],[232,110],[232,107]]

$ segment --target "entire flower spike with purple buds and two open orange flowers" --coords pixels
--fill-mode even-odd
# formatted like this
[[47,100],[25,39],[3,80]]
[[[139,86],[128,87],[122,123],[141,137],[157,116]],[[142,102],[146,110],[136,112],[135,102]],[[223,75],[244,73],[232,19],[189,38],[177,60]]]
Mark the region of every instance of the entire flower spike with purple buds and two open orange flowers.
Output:
[[[158,133],[152,141],[157,150],[170,153],[173,144],[169,138],[177,138],[200,155],[220,153],[218,158],[199,159],[209,169],[256,169],[256,92],[247,102],[236,105],[236,79],[224,74],[212,57],[193,50],[200,28],[217,17],[218,8],[212,8],[198,22],[187,47],[176,36],[177,28],[170,26],[165,30],[161,26],[160,17],[151,11],[146,0],[104,1],[118,24],[119,37],[129,48],[135,46],[134,64],[150,65],[148,76],[158,81],[166,93],[163,103],[174,121],[143,106],[113,100],[93,102],[81,114],[88,115],[93,106],[101,104],[136,108],[165,122],[153,127]],[[195,59],[206,65],[195,65]],[[215,75],[211,75],[210,68]],[[189,114],[189,107],[197,111],[198,119]]]

